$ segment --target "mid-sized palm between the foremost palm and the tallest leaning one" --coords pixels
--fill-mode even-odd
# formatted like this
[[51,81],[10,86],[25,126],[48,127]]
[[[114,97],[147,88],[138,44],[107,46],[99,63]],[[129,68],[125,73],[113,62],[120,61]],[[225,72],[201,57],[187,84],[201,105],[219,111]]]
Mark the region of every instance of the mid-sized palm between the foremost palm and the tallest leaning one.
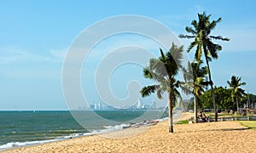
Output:
[[197,100],[199,96],[204,93],[204,88],[207,85],[205,77],[207,75],[207,67],[201,67],[202,61],[188,63],[188,68],[183,68],[183,77],[185,83],[183,84],[183,91],[187,94],[194,94],[194,110],[195,110],[195,122],[197,120]]

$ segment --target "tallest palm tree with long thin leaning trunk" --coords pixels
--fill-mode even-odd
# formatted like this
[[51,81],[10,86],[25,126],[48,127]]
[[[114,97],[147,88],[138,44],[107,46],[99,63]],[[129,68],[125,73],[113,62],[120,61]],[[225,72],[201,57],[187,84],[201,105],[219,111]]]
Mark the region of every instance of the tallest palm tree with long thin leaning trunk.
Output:
[[198,21],[192,20],[191,25],[193,27],[186,26],[185,30],[192,34],[192,35],[179,35],[182,38],[194,38],[194,42],[191,42],[188,48],[188,52],[195,48],[195,60],[200,61],[202,54],[204,54],[206,62],[207,62],[207,69],[209,75],[209,83],[211,85],[212,90],[212,101],[213,107],[215,112],[215,122],[218,121],[218,112],[216,108],[215,96],[213,92],[213,82],[212,82],[212,75],[210,71],[209,61],[212,59],[218,59],[218,51],[222,50],[222,47],[217,44],[213,43],[212,39],[222,40],[222,41],[229,41],[229,38],[224,38],[221,36],[212,36],[211,31],[215,28],[215,26],[221,21],[221,18],[218,20],[210,21],[210,15],[207,15],[205,12],[203,14],[198,14]]

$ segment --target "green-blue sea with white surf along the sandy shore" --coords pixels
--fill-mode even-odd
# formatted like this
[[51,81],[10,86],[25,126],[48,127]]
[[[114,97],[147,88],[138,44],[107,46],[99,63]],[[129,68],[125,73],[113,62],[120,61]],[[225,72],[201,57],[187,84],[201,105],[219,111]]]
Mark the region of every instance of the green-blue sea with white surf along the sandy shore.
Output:
[[[79,136],[121,130],[131,122],[165,118],[160,111],[95,111],[104,122],[90,117],[91,111],[74,111],[83,117],[81,125],[69,111],[0,111],[0,150]],[[76,115],[75,115],[76,116]],[[78,120],[79,121],[79,120]]]

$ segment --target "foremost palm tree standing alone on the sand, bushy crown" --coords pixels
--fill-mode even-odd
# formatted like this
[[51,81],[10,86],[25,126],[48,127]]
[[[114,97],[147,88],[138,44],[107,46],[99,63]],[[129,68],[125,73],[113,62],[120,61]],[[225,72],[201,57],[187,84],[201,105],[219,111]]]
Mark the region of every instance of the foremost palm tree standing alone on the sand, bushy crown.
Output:
[[177,48],[172,43],[172,48],[164,54],[160,48],[160,57],[158,59],[150,59],[149,65],[143,69],[144,77],[154,80],[157,84],[142,88],[141,94],[146,97],[156,92],[159,99],[163,99],[163,94],[168,93],[169,100],[169,133],[173,133],[172,111],[176,105],[177,98],[180,97],[177,88],[180,82],[175,78],[179,69],[182,67],[181,59],[183,59],[183,46]]

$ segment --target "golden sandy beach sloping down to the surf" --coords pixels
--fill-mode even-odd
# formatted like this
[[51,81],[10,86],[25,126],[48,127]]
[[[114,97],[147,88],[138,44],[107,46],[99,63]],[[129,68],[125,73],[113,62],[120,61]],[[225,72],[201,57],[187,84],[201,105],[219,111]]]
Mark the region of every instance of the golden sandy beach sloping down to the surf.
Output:
[[[189,116],[191,114],[185,114],[183,119]],[[111,138],[117,135],[125,138]],[[255,138],[256,131],[239,122],[175,125],[174,133],[168,133],[168,122],[165,121],[151,127],[129,128],[102,136],[66,139],[3,152],[256,152]]]

